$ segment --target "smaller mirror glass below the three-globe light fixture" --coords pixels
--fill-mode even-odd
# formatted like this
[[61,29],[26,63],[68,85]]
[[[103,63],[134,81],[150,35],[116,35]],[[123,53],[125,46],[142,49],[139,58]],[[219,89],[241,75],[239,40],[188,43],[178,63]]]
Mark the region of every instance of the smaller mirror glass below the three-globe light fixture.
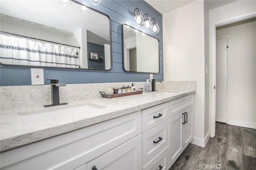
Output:
[[123,69],[125,71],[159,73],[159,40],[122,25]]

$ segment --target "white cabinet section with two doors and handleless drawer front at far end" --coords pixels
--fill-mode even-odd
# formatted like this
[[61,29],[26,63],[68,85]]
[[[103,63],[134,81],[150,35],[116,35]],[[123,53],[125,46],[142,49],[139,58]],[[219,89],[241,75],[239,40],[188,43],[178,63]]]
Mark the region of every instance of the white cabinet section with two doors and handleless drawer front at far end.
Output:
[[193,139],[194,94],[169,102],[169,168]]

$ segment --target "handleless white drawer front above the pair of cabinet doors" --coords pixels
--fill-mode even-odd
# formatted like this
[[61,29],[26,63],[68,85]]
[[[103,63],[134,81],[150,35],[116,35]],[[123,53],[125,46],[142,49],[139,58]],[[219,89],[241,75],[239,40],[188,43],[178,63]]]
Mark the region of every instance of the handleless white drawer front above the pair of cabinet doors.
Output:
[[169,101],[169,118],[192,106],[194,103],[194,94],[180,97]]

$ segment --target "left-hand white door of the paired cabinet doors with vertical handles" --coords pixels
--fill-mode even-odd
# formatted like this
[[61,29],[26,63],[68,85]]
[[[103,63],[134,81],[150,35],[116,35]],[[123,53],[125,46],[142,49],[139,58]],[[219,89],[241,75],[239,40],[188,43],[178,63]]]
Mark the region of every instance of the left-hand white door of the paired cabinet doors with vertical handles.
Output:
[[182,113],[169,119],[169,168],[182,152]]

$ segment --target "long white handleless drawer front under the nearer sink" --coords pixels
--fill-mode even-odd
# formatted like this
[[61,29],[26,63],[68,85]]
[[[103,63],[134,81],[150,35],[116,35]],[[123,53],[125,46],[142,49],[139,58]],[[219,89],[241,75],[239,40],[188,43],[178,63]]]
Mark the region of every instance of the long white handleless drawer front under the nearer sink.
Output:
[[141,111],[1,153],[1,170],[71,170],[141,133]]

